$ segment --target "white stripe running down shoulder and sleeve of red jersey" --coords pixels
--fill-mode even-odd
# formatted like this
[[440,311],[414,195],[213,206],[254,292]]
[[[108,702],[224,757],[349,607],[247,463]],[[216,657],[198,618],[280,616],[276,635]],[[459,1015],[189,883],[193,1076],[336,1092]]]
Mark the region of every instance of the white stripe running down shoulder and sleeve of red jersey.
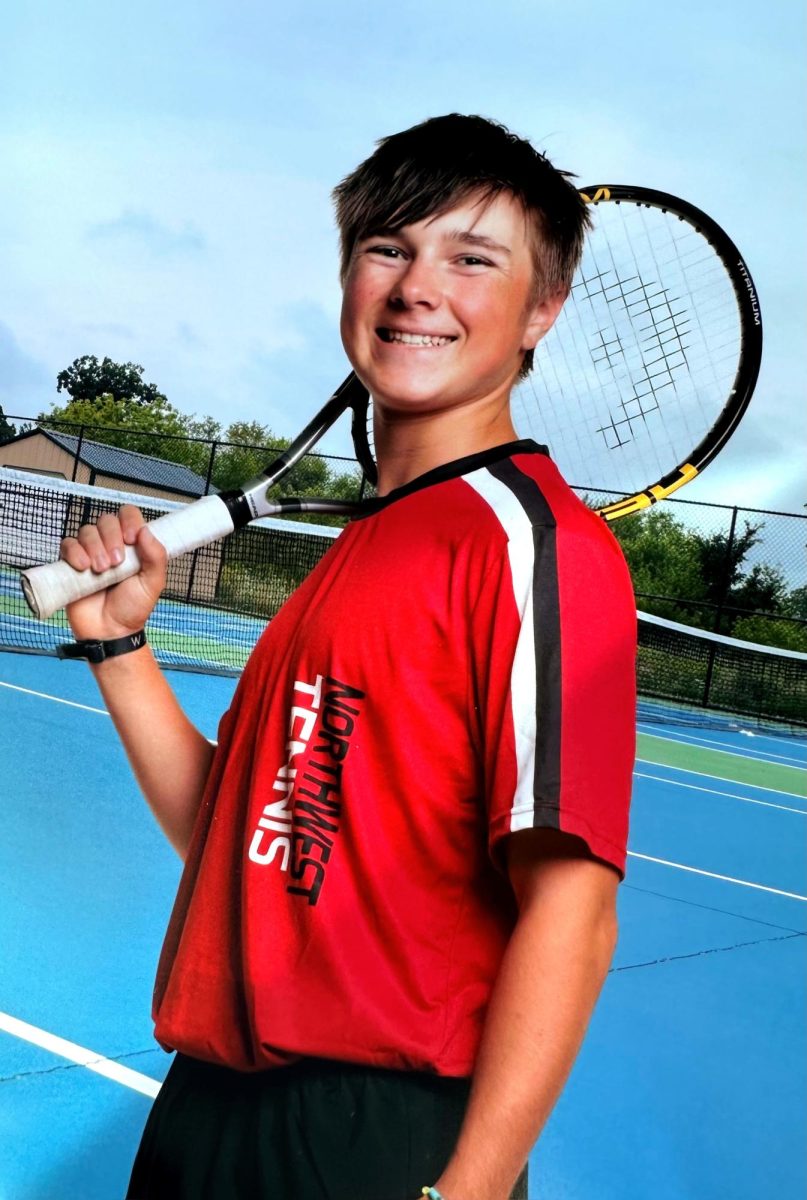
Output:
[[516,784],[510,808],[510,830],[531,829],[536,780],[536,638],[532,607],[534,544],[532,523],[513,492],[484,467],[462,479],[485,500],[504,533],[510,577],[521,629],[510,674],[510,706],[515,731]]

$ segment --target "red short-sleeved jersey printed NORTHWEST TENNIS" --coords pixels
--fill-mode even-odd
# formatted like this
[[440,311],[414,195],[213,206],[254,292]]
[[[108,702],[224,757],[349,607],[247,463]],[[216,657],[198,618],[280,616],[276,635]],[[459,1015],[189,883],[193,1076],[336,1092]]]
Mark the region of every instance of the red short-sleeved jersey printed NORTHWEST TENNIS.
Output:
[[159,1040],[471,1074],[516,916],[503,840],[562,829],[623,872],[634,652],[621,551],[534,443],[371,502],[222,719]]

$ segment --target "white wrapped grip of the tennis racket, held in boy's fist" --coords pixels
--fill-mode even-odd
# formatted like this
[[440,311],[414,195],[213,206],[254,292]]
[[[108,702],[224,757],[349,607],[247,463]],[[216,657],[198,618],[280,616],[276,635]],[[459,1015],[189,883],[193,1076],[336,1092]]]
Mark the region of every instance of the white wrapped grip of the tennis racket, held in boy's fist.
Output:
[[[208,546],[211,541],[225,538],[233,532],[234,524],[223,500],[217,496],[203,496],[185,509],[166,512],[156,521],[150,521],[149,529],[166,547],[168,558],[177,558],[189,550],[198,550],[199,546]],[[29,566],[22,572],[20,582],[29,608],[44,620],[73,600],[103,592],[114,583],[131,578],[139,569],[137,553],[132,546],[126,546],[124,562],[98,575],[89,569],[77,571],[60,559],[43,566]]]

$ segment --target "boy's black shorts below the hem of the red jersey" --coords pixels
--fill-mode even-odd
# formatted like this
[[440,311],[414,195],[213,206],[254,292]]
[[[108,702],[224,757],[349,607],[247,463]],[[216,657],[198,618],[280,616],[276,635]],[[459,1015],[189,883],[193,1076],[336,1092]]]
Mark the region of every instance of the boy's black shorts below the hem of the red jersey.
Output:
[[[470,1081],[307,1058],[246,1074],[177,1055],[127,1200],[417,1200]],[[514,1198],[526,1200],[526,1181]]]

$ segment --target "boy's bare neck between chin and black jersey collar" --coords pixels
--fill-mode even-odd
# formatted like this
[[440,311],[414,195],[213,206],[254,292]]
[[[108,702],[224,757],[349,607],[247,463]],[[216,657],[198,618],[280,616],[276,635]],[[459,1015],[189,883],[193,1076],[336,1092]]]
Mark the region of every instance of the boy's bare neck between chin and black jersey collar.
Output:
[[443,463],[513,442],[509,397],[492,409],[401,414],[373,401],[378,496],[404,487]]

